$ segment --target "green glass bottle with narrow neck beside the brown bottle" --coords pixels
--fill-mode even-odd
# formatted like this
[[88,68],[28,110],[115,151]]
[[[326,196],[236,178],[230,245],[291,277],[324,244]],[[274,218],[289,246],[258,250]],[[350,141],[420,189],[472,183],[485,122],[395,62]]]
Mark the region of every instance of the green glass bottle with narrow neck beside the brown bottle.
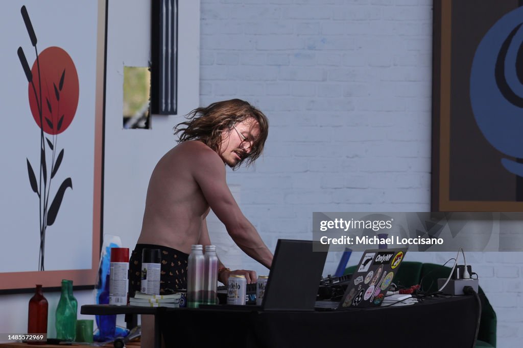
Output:
[[76,335],[76,311],[69,298],[69,281],[62,280],[62,294],[56,306],[56,338],[74,341]]

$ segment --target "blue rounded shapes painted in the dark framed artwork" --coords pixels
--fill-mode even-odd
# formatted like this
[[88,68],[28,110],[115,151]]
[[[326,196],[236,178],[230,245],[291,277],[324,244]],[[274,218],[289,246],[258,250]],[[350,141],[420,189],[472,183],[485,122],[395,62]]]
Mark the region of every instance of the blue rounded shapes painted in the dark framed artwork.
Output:
[[[523,158],[523,7],[499,19],[477,46],[471,68],[472,112],[485,139],[508,157]],[[466,136],[466,135],[464,135]],[[510,173],[523,164],[504,158]]]

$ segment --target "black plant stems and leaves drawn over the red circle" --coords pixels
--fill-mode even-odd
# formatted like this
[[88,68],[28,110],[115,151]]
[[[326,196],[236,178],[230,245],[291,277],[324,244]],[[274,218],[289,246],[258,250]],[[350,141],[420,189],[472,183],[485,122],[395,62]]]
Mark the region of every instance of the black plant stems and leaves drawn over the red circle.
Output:
[[[38,270],[43,271],[44,270],[44,256],[45,256],[45,247],[46,247],[46,231],[47,227],[51,226],[55,220],[56,215],[58,214],[58,211],[60,209],[60,206],[62,204],[62,199],[65,193],[65,190],[69,188],[73,188],[73,182],[70,177],[66,178],[58,190],[56,190],[56,194],[54,195],[54,198],[51,202],[51,205],[49,205],[49,197],[51,196],[51,182],[52,179],[55,177],[56,172],[58,172],[58,169],[60,167],[60,164],[62,163],[63,157],[64,157],[64,150],[62,149],[58,155],[56,155],[56,148],[57,148],[57,140],[58,140],[58,133],[60,130],[62,130],[63,121],[64,121],[64,115],[59,117],[60,115],[60,95],[64,88],[65,84],[65,69],[63,69],[63,73],[61,76],[56,76],[55,82],[52,82],[52,89],[54,90],[54,98],[56,98],[56,102],[58,102],[58,110],[55,110],[53,112],[52,103],[50,102],[49,98],[46,97],[46,105],[43,105],[42,100],[42,87],[50,89],[49,83],[50,81],[44,81],[44,86],[42,86],[42,80],[40,78],[40,60],[39,60],[39,54],[37,49],[37,37],[35,34],[35,31],[33,30],[31,20],[29,19],[29,15],[27,13],[27,9],[25,6],[21,7],[21,14],[22,18],[24,19],[25,26],[27,28],[27,32],[29,34],[29,39],[31,40],[31,45],[35,47],[35,53],[36,53],[36,64],[37,64],[37,71],[38,71],[38,86],[35,86],[35,81],[33,80],[33,75],[31,72],[31,68],[29,64],[27,63],[26,55],[24,54],[24,50],[22,50],[22,47],[18,47],[18,58],[20,59],[20,63],[22,65],[22,68],[24,68],[24,72],[27,78],[27,81],[29,82],[30,88],[32,89],[32,92],[34,93],[34,97],[36,99],[36,104],[38,107],[38,116],[39,116],[39,127],[40,127],[40,166],[39,166],[39,177],[37,180],[37,176],[35,175],[35,171],[33,171],[33,167],[31,163],[29,162],[29,159],[27,160],[27,172],[29,175],[29,183],[31,185],[31,189],[34,193],[37,194],[39,199],[39,214],[40,214],[40,252],[39,252],[39,260],[38,260]],[[58,83],[58,86],[57,86]],[[52,93],[47,93],[48,95]],[[54,102],[54,101],[53,101]],[[56,105],[56,104],[53,104]],[[44,117],[43,116],[43,110],[42,107],[47,107],[49,110],[49,113],[52,115],[51,118]],[[56,115],[56,116],[55,116]],[[44,136],[44,123],[46,122],[47,126],[53,130],[51,132],[46,131],[46,133],[51,135],[51,140],[49,137]],[[56,128],[54,128],[56,127]],[[47,145],[47,146],[46,146]],[[48,166],[46,155],[48,155],[46,148],[49,148],[50,150],[50,165]],[[48,170],[49,169],[49,170]]]

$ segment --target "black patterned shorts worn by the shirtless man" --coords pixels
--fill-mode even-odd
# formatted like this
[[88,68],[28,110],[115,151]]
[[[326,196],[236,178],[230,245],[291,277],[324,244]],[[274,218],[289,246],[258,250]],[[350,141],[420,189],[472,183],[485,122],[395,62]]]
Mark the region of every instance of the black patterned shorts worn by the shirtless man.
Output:
[[129,259],[129,297],[140,291],[142,250],[160,249],[162,264],[160,267],[160,294],[169,294],[187,289],[187,260],[189,255],[179,250],[154,244],[137,244]]

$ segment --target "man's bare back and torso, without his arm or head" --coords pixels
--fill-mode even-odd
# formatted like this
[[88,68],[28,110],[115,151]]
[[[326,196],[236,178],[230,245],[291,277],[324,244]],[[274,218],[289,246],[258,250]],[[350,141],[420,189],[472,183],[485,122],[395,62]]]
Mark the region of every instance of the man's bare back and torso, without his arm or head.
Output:
[[209,203],[195,178],[199,170],[195,159],[209,156],[219,159],[207,145],[191,140],[180,143],[156,164],[138,243],[164,245],[186,254],[192,244],[198,244]]

